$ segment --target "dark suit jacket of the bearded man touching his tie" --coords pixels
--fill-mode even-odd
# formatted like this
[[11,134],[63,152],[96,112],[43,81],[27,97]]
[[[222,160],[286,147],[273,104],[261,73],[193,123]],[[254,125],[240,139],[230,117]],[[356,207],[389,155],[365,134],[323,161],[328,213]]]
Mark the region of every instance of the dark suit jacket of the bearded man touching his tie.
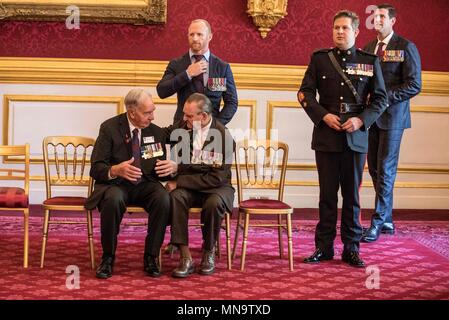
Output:
[[[189,77],[187,76],[187,68],[191,64],[189,53],[187,52],[182,57],[170,61],[165,70],[162,79],[157,84],[157,94],[162,99],[167,98],[173,94],[177,94],[178,108],[176,110],[173,123],[177,123],[183,117],[182,109],[187,98],[195,93],[195,87]],[[210,78],[225,78],[226,91],[211,91],[207,86],[204,94],[212,102],[213,110],[212,116],[220,120],[226,125],[231,121],[235,112],[237,111],[237,91],[235,88],[234,76],[232,75],[231,67],[227,62],[222,61],[217,56],[210,54],[209,59],[209,79]],[[224,106],[220,111],[220,103],[223,99]]]

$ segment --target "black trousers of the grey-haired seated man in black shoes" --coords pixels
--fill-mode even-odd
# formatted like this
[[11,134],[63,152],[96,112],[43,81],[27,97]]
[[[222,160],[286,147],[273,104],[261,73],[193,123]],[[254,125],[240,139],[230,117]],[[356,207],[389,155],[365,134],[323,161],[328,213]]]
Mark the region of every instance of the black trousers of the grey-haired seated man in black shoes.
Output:
[[103,257],[115,256],[120,223],[127,205],[141,206],[148,212],[148,229],[144,257],[157,257],[168,224],[170,197],[159,182],[142,181],[110,187],[99,204]]

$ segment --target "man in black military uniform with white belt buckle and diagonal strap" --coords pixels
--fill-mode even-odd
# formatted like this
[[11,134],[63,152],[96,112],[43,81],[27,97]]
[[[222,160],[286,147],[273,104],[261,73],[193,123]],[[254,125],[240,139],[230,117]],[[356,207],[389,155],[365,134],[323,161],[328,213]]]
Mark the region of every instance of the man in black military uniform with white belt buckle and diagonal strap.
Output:
[[312,149],[320,183],[316,250],[304,260],[306,263],[333,259],[341,186],[342,260],[364,267],[359,256],[359,188],[368,151],[368,129],[387,107],[387,94],[377,56],[354,46],[358,26],[355,13],[337,12],[333,20],[335,48],[314,52],[298,92],[299,102],[315,124]]

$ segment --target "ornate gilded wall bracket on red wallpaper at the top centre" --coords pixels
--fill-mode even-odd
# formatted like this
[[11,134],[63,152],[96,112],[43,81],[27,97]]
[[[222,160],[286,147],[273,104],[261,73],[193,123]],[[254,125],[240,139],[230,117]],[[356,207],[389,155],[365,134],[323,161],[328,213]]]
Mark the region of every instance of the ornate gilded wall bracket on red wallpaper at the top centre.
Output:
[[288,0],[248,0],[246,12],[253,18],[262,38],[266,38],[268,32],[287,15],[287,2]]

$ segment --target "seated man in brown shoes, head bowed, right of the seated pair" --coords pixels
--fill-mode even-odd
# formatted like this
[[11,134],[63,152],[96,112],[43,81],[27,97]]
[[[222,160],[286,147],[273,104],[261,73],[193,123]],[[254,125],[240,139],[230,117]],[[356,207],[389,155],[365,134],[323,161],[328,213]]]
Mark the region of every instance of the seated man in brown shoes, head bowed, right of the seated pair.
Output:
[[171,243],[181,253],[179,266],[172,273],[176,278],[185,278],[195,270],[189,250],[189,208],[202,207],[203,256],[198,272],[212,274],[215,243],[224,213],[232,210],[235,192],[231,185],[235,143],[227,128],[212,117],[211,101],[194,93],[183,111],[183,121],[168,129],[171,141],[181,137],[177,144],[181,157],[178,175],[166,184],[170,191]]

